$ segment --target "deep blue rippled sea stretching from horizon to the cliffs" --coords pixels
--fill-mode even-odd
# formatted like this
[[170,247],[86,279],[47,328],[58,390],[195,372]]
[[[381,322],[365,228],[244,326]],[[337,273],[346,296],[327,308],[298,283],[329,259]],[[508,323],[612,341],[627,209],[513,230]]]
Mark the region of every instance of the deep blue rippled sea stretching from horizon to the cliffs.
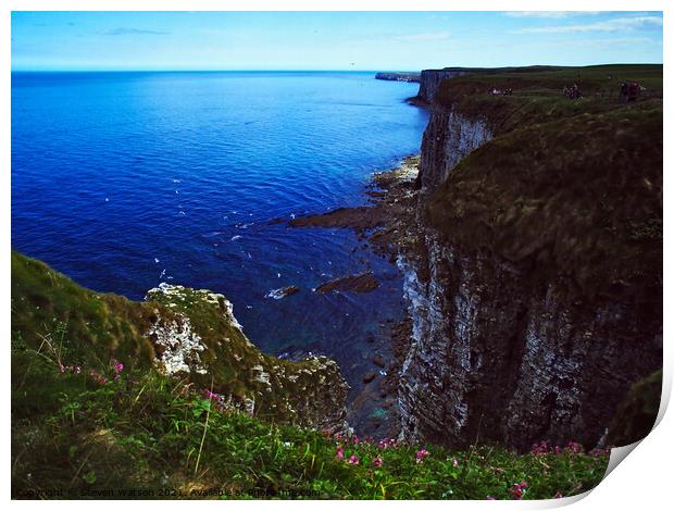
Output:
[[[374,73],[14,73],[12,246],[132,299],[223,292],[264,351],[332,356],[354,383],[401,275],[350,230],[270,221],[364,203],[373,172],[419,151],[415,94]],[[311,290],[366,270],[372,294]]]

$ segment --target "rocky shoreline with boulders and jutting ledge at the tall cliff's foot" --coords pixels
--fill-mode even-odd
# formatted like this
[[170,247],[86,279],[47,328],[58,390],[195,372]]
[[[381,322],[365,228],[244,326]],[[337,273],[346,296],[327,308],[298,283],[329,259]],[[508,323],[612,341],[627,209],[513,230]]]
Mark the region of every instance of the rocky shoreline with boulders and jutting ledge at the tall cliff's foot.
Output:
[[[416,224],[420,161],[420,155],[409,155],[400,165],[374,174],[365,190],[369,197],[366,205],[298,216],[288,224],[294,228],[353,229],[375,253],[402,267],[401,257],[405,260],[421,257]],[[362,281],[365,287],[372,286],[372,281],[365,281],[365,277],[374,278],[371,274],[362,274],[339,281],[355,278]],[[367,339],[373,346],[373,370],[365,374],[364,388],[353,399],[349,410],[349,423],[361,435],[397,437],[400,433],[399,373],[409,351],[411,328],[412,319],[405,311],[402,320],[382,325],[380,336]],[[384,347],[387,349],[382,349]],[[388,357],[384,357],[383,351],[388,351]]]

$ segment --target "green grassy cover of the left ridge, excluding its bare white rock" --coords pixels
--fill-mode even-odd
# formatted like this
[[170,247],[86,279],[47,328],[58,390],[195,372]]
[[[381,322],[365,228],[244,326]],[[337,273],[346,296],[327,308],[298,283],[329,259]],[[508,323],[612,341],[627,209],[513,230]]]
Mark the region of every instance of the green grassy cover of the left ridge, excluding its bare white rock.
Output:
[[[55,366],[102,371],[116,359],[130,370],[147,371],[155,360],[150,325],[187,316],[207,347],[201,359],[208,373],[189,375],[196,387],[212,385],[213,391],[226,391],[239,403],[254,399],[257,415],[283,422],[316,424],[322,414],[339,409],[346,389],[334,362],[289,362],[263,354],[233,326],[222,303],[203,299],[205,294],[185,288],[172,297],[155,292],[152,301],[135,302],[85,289],[12,252],[12,342],[39,350]],[[15,362],[13,372],[21,372]]]

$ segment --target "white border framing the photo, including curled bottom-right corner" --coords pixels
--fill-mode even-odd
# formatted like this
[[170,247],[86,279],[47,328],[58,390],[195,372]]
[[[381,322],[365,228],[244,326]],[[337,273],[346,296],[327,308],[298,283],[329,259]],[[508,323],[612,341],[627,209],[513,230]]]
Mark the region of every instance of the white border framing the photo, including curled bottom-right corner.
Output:
[[[670,39],[669,34],[671,33],[671,27],[669,23],[669,16],[672,12],[671,9],[665,9],[666,3],[664,1],[626,1],[626,0],[616,0],[616,1],[597,1],[597,0],[565,0],[564,2],[551,1],[551,0],[539,0],[539,1],[522,1],[514,0],[509,2],[495,2],[489,0],[463,0],[463,1],[426,1],[426,0],[415,0],[415,1],[401,1],[401,0],[389,0],[389,1],[367,1],[367,0],[325,0],[322,2],[308,2],[308,1],[285,1],[285,2],[272,2],[272,1],[259,1],[259,0],[249,0],[246,3],[244,2],[225,2],[225,1],[216,1],[216,0],[191,0],[191,1],[148,1],[148,0],[63,0],[63,1],[48,1],[48,0],[10,0],[3,2],[3,16],[1,21],[1,37],[2,42],[2,59],[3,59],[3,70],[4,70],[4,79],[2,80],[2,147],[1,147],[1,155],[3,165],[2,172],[2,186],[1,186],[1,198],[2,198],[2,207],[4,209],[4,214],[2,215],[2,230],[4,236],[2,238],[3,250],[0,251],[0,260],[2,262],[2,284],[3,290],[0,303],[0,314],[2,317],[2,326],[5,333],[4,335],[4,356],[7,357],[9,350],[9,328],[10,328],[10,112],[11,112],[11,90],[10,90],[10,62],[11,62],[11,48],[10,48],[10,32],[11,32],[11,20],[10,20],[10,11],[11,10],[87,10],[87,11],[102,11],[102,10],[125,10],[125,11],[220,11],[220,10],[230,10],[230,11],[249,11],[249,10],[269,10],[269,11],[376,11],[376,10],[391,10],[391,11],[490,11],[490,10],[508,10],[508,11],[556,11],[556,10],[586,10],[586,11],[665,11],[664,13],[664,54],[670,54]],[[670,27],[670,28],[667,28]],[[447,63],[451,65],[451,62]],[[664,169],[667,169],[667,164],[671,163],[671,150],[672,147],[672,137],[671,137],[671,122],[670,122],[670,92],[671,92],[671,84],[672,84],[672,73],[670,68],[665,65],[665,120],[664,120],[664,129],[665,129],[665,160],[664,160]],[[669,188],[666,186],[666,172],[665,172],[665,204],[669,203],[667,195]],[[671,215],[669,214],[670,208],[665,205],[664,210],[664,223],[665,230],[666,226],[670,225]],[[671,247],[672,244],[670,241],[670,237],[665,235],[664,237],[664,256],[665,261],[667,261],[667,257],[672,253]],[[669,349],[670,339],[667,334],[671,332],[671,320],[672,317],[672,292],[671,288],[671,272],[667,270],[667,265],[665,264],[664,272],[664,303],[665,303],[665,319],[664,319],[664,389],[663,389],[663,399],[669,401],[669,397],[671,396],[671,387],[672,387],[672,357],[671,350]],[[7,449],[7,458],[4,459],[4,474],[0,482],[2,484],[3,494],[7,499],[10,498],[10,477],[11,477],[11,466],[9,463],[9,438],[10,438],[10,414],[9,414],[9,394],[10,394],[10,361],[9,357],[3,361],[3,371],[0,371],[0,377],[2,378],[2,389],[4,390],[4,400],[3,406],[5,412],[5,420],[2,422],[2,433],[4,439],[4,446]],[[628,460],[614,470],[604,482],[602,482],[594,491],[591,491],[585,498],[577,500],[577,503],[574,504],[574,509],[583,510],[594,510],[597,508],[601,509],[660,509],[663,504],[672,506],[670,496],[672,485],[672,440],[674,439],[674,420],[672,420],[672,413],[665,414],[662,419],[662,422],[656,427],[656,429],[629,454]],[[447,507],[452,507],[453,509],[494,509],[497,507],[499,509],[503,509],[504,506],[517,507],[519,509],[546,509],[550,507],[559,507],[560,504],[567,503],[569,500],[572,499],[562,499],[562,501],[541,501],[541,502],[484,502],[484,501],[461,501],[461,502],[423,502],[424,507],[430,507],[440,509],[447,509]],[[575,500],[575,499],[574,499]],[[11,506],[18,508],[33,507],[36,503],[32,502],[18,502],[12,501]],[[146,502],[132,503],[124,502],[123,506],[147,506]],[[227,507],[249,507],[249,506],[262,506],[263,503],[260,501],[254,502],[190,502],[189,506],[227,506]],[[282,506],[284,508],[300,508],[304,507],[309,509],[309,507],[316,506],[315,502],[301,502],[301,501],[292,501],[292,502],[264,502],[266,506]],[[390,508],[400,508],[402,506],[412,506],[412,502],[387,502],[385,506]],[[84,509],[85,507],[90,507],[91,503],[83,502],[83,501],[67,501],[67,502],[49,502],[47,506],[54,506],[58,508],[67,507]],[[103,509],[112,509],[120,506],[118,502],[107,502],[100,501],[95,506],[101,507]],[[173,508],[173,507],[184,507],[185,502],[179,501],[162,501],[162,507]],[[341,508],[345,503],[340,501],[327,501],[321,502],[320,506],[322,508],[328,509],[337,509],[337,507]],[[353,506],[353,504],[348,504]],[[357,506],[362,506],[357,504]],[[369,502],[367,506],[378,506],[375,502]],[[487,508],[488,507],[488,508]]]

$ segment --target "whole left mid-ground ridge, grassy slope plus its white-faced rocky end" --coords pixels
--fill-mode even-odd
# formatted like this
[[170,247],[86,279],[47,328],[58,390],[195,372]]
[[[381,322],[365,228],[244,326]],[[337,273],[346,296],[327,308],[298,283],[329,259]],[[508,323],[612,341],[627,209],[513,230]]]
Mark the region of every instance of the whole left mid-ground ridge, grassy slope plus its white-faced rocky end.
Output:
[[[159,371],[275,423],[348,432],[349,386],[326,357],[282,360],[244,334],[224,295],[161,284],[146,301],[85,289],[12,252],[12,336],[38,349],[59,328],[63,365]],[[54,326],[52,326],[54,325]],[[116,362],[115,362],[116,363]]]

